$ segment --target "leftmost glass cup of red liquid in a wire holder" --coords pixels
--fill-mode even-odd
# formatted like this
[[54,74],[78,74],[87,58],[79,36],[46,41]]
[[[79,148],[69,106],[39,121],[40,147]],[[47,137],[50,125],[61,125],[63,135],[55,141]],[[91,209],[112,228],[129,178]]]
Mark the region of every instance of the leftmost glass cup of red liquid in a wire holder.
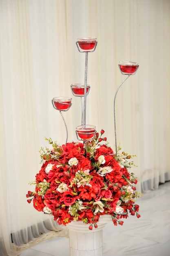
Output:
[[71,107],[71,100],[68,97],[55,97],[52,99],[52,104],[56,110],[67,111]]

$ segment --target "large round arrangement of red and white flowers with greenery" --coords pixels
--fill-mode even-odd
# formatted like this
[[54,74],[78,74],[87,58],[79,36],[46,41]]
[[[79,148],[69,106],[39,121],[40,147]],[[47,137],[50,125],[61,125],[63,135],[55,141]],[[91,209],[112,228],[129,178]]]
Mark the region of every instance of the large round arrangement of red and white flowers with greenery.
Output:
[[[95,139],[60,145],[46,139],[52,149],[41,148],[42,167],[35,176],[35,191],[28,191],[27,201],[37,211],[52,214],[59,224],[76,220],[96,228],[100,216],[109,214],[114,225],[123,225],[128,214],[140,217],[135,198],[137,179],[127,153],[114,154],[97,132]],[[121,148],[119,147],[119,150]],[[118,152],[119,152],[118,150]],[[129,162],[130,161],[130,162]]]

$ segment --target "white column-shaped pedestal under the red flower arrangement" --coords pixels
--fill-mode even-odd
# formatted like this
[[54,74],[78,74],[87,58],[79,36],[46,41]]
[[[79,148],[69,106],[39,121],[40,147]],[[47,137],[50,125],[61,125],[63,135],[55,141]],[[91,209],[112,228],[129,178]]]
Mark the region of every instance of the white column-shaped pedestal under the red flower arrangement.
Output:
[[103,228],[111,221],[111,216],[99,218],[97,228],[90,230],[89,224],[82,221],[73,221],[67,225],[69,230],[70,256],[102,256],[103,255]]

